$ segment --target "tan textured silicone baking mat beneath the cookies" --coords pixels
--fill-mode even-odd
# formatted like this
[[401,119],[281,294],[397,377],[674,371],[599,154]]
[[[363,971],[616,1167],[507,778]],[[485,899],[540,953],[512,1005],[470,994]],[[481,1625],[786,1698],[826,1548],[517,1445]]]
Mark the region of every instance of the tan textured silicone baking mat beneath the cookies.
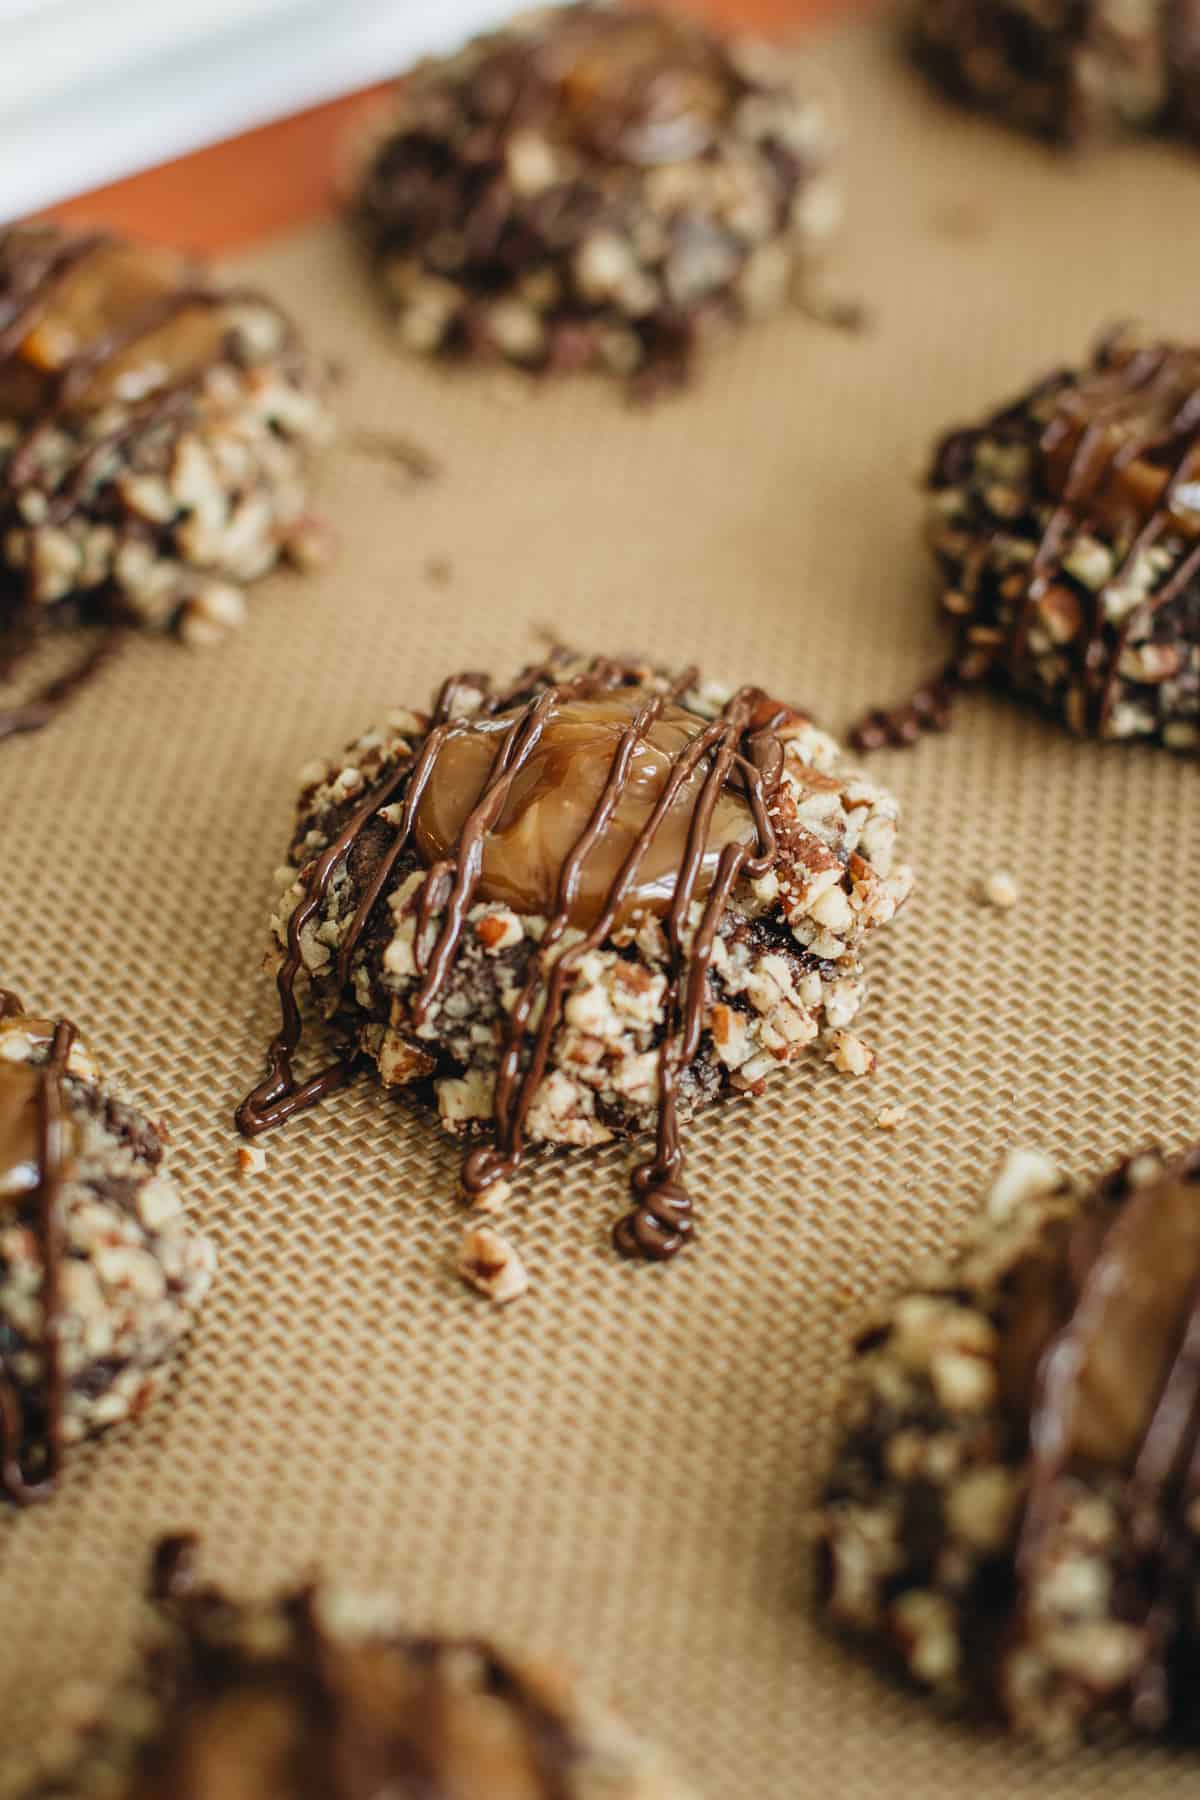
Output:
[[[140,641],[45,736],[0,752],[4,979],[68,1010],[169,1121],[221,1253],[171,1391],[0,1519],[0,1721],[126,1658],[151,1539],[210,1571],[315,1564],[387,1584],[414,1624],[558,1647],[718,1800],[1166,1795],[1153,1751],[1070,1766],[941,1723],[831,1642],[802,1521],[855,1321],[954,1244],[1006,1145],[1099,1170],[1200,1130],[1195,763],[1074,743],[990,697],[873,760],[919,873],[869,947],[874,1076],[819,1055],[691,1130],[702,1242],[608,1247],[630,1150],[542,1157],[504,1229],[531,1291],[455,1280],[457,1152],[369,1084],[264,1139],[232,1111],[273,1030],[261,974],[315,752],[509,670],[536,626],[774,684],[840,727],[937,653],[914,475],[936,430],[1081,353],[1123,315],[1195,329],[1200,162],[1074,164],[943,110],[880,29],[806,52],[842,88],[849,220],[828,281],[860,335],[788,317],[680,400],[531,392],[403,360],[329,225],[257,254],[345,365],[320,500],[342,551],[279,578],[225,650]],[[363,434],[441,464],[414,484]],[[1011,869],[995,913],[975,878]],[[874,1129],[901,1103],[896,1132]]]

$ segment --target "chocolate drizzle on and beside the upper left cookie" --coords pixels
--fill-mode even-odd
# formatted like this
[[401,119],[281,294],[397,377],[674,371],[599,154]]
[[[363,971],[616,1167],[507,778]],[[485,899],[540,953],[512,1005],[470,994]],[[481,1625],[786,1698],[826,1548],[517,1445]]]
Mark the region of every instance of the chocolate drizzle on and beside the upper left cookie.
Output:
[[[31,335],[52,315],[54,302],[72,277],[86,265],[121,250],[121,241],[88,232],[61,236],[52,229],[14,227],[0,236],[0,382],[5,374],[32,371],[22,356]],[[153,293],[128,317],[110,329],[81,342],[45,380],[45,392],[23,419],[18,443],[7,452],[0,468],[0,513],[18,493],[36,493],[45,506],[45,522],[65,524],[77,508],[88,481],[99,463],[126,439],[182,418],[193,405],[209,374],[232,355],[228,333],[212,331],[210,344],[198,360],[164,373],[148,394],[124,403],[126,416],[99,437],[81,441],[67,466],[56,463],[52,481],[40,475],[38,455],[47,434],[79,410],[90,410],[90,391],[101,376],[139,344],[151,340],[184,315],[193,311],[219,311],[227,306],[268,304],[263,295],[243,288],[210,288],[200,279],[180,281],[169,292]],[[277,311],[277,308],[272,308]],[[282,315],[279,315],[282,319]],[[293,338],[291,326],[282,320],[284,335]],[[38,371],[41,376],[43,371]],[[4,405],[0,403],[0,412]],[[126,520],[126,535],[137,526]],[[0,598],[0,680],[7,680],[34,648],[43,625],[43,607],[34,596],[34,558],[29,558],[25,592],[14,603]],[[0,709],[0,740],[40,731],[56,713],[108,662],[121,641],[121,619],[112,605],[99,605],[108,623],[108,635],[79,664],[47,682],[22,704]]]

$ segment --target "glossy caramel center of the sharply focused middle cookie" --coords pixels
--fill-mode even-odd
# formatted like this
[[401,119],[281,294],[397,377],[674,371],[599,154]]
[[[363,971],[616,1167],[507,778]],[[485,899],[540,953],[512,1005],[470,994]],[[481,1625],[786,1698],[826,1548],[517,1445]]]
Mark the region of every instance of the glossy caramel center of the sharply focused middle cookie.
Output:
[[[621,734],[646,700],[644,691],[626,691],[552,707],[495,828],[484,837],[477,898],[509,905],[515,913],[551,916],[558,911],[563,864],[604,792]],[[500,713],[468,720],[446,738],[414,821],[416,844],[426,862],[453,859],[462,826],[493,774],[504,736],[520,716]],[[703,729],[705,722],[694,713],[664,706],[640,738],[613,815],[583,859],[570,905],[572,925],[588,929],[603,914],[624,859],[649,826],[673,761]],[[709,767],[709,758],[702,756],[649,835],[637,877],[622,895],[617,923],[628,922],[639,909],[667,911]],[[752,844],[754,837],[748,805],[723,788],[712,810],[696,898],[709,891],[725,844]]]

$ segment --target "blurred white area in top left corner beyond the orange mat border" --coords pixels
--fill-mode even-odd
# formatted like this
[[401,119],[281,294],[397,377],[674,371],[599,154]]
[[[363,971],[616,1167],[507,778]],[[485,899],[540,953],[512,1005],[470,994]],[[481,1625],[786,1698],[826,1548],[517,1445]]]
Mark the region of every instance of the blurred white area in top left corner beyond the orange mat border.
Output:
[[0,220],[396,74],[507,0],[0,0]]

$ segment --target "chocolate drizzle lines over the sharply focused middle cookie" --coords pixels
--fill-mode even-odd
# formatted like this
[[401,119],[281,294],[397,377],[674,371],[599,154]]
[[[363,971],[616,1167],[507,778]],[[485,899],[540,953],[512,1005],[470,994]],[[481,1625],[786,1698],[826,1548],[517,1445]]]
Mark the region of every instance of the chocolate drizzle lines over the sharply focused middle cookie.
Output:
[[[669,702],[694,680],[689,670],[671,689],[646,693],[646,700],[621,731],[617,749],[608,767],[608,778],[594,803],[592,814],[558,871],[558,893],[552,914],[533,952],[527,976],[509,1012],[497,1069],[493,1127],[495,1143],[471,1150],[462,1165],[462,1184],[468,1193],[482,1193],[497,1181],[511,1175],[522,1161],[524,1134],[534,1094],[545,1076],[554,1035],[563,1017],[570,979],[579,959],[603,945],[613,932],[622,905],[633,891],[639,869],[664,819],[684,792],[691,794],[685,848],[675,878],[669,909],[664,920],[669,945],[669,983],[666,992],[666,1030],[658,1046],[658,1125],[653,1157],[633,1172],[635,1208],[615,1228],[615,1244],[622,1255],[640,1255],[653,1260],[673,1256],[693,1233],[693,1208],[682,1184],[682,1147],[678,1134],[678,1078],[696,1058],[703,1031],[707,974],[716,932],[729,905],[734,886],[741,878],[761,878],[775,862],[775,832],[770,819],[770,801],[783,772],[783,745],[777,727],[790,716],[757,688],[739,689],[712,722],[696,718],[696,733],[669,760],[669,770],[635,833],[628,853],[613,875],[597,916],[581,938],[561,949],[563,934],[572,920],[579,882],[588,853],[601,842],[612,824],[628,783],[631,760],[646,733],[660,718]],[[282,1123],[293,1112],[349,1078],[349,1064],[338,1062],[322,1075],[299,1084],[291,1057],[300,1042],[300,1015],[295,1001],[295,979],[302,967],[300,940],[304,927],[318,913],[329,886],[349,857],[353,846],[401,788],[405,799],[396,824],[396,835],[371,877],[353,920],[342,938],[336,963],[335,1008],[351,977],[351,959],[380,904],[389,880],[405,850],[410,848],[417,808],[426,792],[437,758],[448,736],[462,729],[453,718],[455,698],[464,688],[486,682],[480,677],[455,677],[437,700],[430,731],[414,760],[401,763],[353,814],[322,855],[300,875],[304,898],[288,923],[284,961],[277,986],[281,999],[281,1031],[268,1049],[268,1076],[237,1109],[237,1125],[246,1136]],[[428,866],[417,904],[417,968],[419,986],[410,1003],[412,1022],[419,1028],[444,988],[446,977],[462,945],[470,907],[479,891],[484,841],[498,823],[522,769],[538,749],[554,709],[561,704],[594,698],[622,686],[637,686],[637,673],[619,662],[599,659],[581,675],[560,677],[554,659],[536,675],[527,677],[518,695],[488,695],[480,716],[506,713],[520,693],[533,697],[515,711],[500,740],[491,776],[466,817],[452,851]],[[700,776],[698,787],[689,779]],[[716,873],[703,900],[700,898],[700,871],[709,842],[709,830],[718,799],[725,792],[743,797],[754,842],[727,842],[718,857]],[[700,904],[698,923],[691,925],[693,905]],[[434,929],[435,918],[441,923]],[[428,940],[432,938],[432,943]],[[536,1024],[531,1021],[536,1015]]]

